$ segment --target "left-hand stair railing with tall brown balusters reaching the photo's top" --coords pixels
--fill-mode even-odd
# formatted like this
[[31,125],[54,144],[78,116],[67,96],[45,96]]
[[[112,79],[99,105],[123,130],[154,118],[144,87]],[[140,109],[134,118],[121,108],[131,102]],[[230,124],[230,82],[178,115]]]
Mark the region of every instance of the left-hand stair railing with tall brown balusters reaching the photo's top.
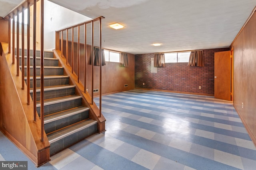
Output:
[[[26,0],[20,6],[16,7],[10,14],[8,14],[5,18],[9,20],[9,53],[12,53],[12,64],[15,64],[15,33],[16,33],[16,76],[20,76],[20,12],[22,13],[22,22],[21,22],[21,72],[22,72],[22,90],[25,90],[25,63],[24,63],[24,51],[25,51],[25,34],[27,34],[27,104],[30,104],[30,6],[34,4],[33,8],[33,106],[34,106],[34,121],[36,121],[36,2],[38,0]],[[27,15],[27,32],[24,31],[24,10],[28,10]],[[16,32],[15,32],[15,17],[16,20]],[[12,20],[12,23],[11,23]],[[12,27],[12,35],[11,35],[11,27]],[[41,22],[40,22],[40,30],[41,30],[41,52],[40,52],[40,119],[41,119],[41,142],[44,142],[44,0],[41,0]],[[33,33],[32,32],[32,33]],[[12,42],[12,43],[11,43]]]

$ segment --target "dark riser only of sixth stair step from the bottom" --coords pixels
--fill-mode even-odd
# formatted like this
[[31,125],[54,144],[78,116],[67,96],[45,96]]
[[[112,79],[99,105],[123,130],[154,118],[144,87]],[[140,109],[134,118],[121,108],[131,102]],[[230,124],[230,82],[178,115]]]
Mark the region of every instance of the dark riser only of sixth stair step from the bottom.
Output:
[[[40,76],[41,68],[36,68],[36,76]],[[24,74],[27,76],[27,68],[24,68]],[[63,68],[44,68],[44,76],[63,75]],[[33,68],[30,68],[30,76],[33,76]]]

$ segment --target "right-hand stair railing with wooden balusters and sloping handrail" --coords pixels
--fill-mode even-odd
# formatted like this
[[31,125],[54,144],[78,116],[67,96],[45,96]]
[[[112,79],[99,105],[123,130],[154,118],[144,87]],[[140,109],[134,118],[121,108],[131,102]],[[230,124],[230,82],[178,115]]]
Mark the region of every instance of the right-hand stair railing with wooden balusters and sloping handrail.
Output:
[[[82,84],[84,86],[84,93],[88,93],[88,91],[86,90],[86,75],[87,75],[87,72],[86,72],[86,63],[87,63],[87,43],[86,43],[86,38],[87,38],[87,32],[86,32],[86,25],[87,24],[91,24],[91,47],[92,47],[92,57],[91,57],[91,65],[92,65],[92,70],[91,70],[91,78],[92,78],[92,84],[91,84],[91,104],[93,105],[94,104],[94,22],[96,21],[99,21],[99,48],[100,48],[100,63],[102,63],[102,42],[101,42],[101,39],[102,39],[102,19],[104,17],[103,16],[99,16],[97,18],[94,18],[92,20],[88,20],[88,21],[85,21],[85,22],[82,22],[82,23],[79,23],[79,24],[76,24],[76,25],[73,25],[73,26],[68,26],[66,28],[63,28],[61,30],[57,30],[56,31],[56,45],[55,45],[55,48],[56,50],[60,50],[60,55],[61,57],[65,57],[66,58],[66,65],[68,65],[68,61],[69,61],[69,55],[68,55],[68,30],[71,29],[71,63],[70,63],[70,66],[71,66],[71,70],[72,70],[72,74],[75,74],[74,73],[74,52],[77,53],[77,56],[76,56],[76,59],[77,59],[77,73],[76,73],[76,76],[77,76],[77,82],[80,83],[80,75],[79,75],[79,72],[80,72],[80,26],[84,26],[84,37],[83,40],[84,40],[84,63],[83,63],[83,68],[84,68],[84,84]],[[74,42],[74,29],[77,29],[77,32],[78,32],[78,35],[77,35],[77,42]],[[66,40],[64,40],[64,32],[66,31]],[[66,51],[65,51],[65,54],[64,54],[64,41],[66,41]],[[77,43],[77,49],[74,49],[74,43]],[[102,102],[101,102],[101,98],[102,98],[102,64],[100,64],[100,88],[99,88],[99,93],[100,93],[100,104],[99,104],[99,110],[100,110],[100,116],[101,117],[101,106],[102,106]]]

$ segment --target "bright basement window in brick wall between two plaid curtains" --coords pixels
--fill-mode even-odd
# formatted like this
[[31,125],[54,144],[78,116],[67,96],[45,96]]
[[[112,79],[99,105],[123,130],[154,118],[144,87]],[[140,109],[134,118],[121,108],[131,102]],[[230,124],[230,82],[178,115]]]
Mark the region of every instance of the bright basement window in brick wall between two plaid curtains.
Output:
[[165,63],[188,62],[190,52],[168,52],[164,53]]

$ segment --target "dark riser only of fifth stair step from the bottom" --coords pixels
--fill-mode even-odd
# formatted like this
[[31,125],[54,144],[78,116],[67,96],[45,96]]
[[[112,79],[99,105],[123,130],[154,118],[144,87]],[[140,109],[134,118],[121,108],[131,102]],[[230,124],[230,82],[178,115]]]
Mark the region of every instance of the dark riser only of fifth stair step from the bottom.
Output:
[[[25,80],[27,83],[27,80]],[[69,84],[69,78],[44,78],[44,87],[60,86]],[[41,87],[41,80],[36,79],[36,87]],[[30,79],[30,88],[33,88],[33,81]]]

